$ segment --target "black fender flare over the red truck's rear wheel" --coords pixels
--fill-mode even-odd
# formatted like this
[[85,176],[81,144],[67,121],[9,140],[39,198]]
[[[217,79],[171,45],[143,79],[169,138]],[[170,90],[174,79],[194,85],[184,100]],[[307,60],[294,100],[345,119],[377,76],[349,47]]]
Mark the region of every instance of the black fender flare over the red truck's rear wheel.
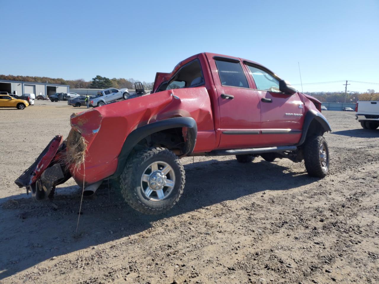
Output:
[[133,130],[128,135],[128,137],[126,137],[124,145],[122,146],[121,152],[118,157],[116,172],[110,178],[117,178],[119,175],[121,175],[130,152],[139,141],[155,132],[179,127],[188,128],[183,155],[191,154],[196,145],[196,121],[192,117],[173,117],[169,119],[159,120],[157,122],[149,123]]

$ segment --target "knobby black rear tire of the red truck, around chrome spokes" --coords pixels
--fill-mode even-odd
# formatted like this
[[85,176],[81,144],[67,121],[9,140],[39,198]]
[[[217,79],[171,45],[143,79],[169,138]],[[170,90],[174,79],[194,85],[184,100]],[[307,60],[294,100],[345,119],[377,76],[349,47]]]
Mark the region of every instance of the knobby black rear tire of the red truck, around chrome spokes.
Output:
[[[152,167],[151,169],[149,168],[154,163],[169,165],[171,170],[165,176],[167,176],[167,180],[174,180],[171,190],[169,187],[163,187],[162,189],[162,192],[166,190],[166,193],[170,190],[167,196],[155,201],[151,198],[154,198],[153,196],[156,195],[155,199],[160,199],[158,195],[159,190],[153,190],[149,198],[146,195],[146,186],[149,186],[151,189],[151,180],[149,179],[149,183],[142,180],[143,176],[149,175],[146,174],[149,170],[151,171],[150,177],[152,176],[152,178],[154,178],[154,172],[161,173],[160,170],[163,170],[162,166],[158,165],[158,171],[154,172]],[[184,184],[185,172],[182,163],[178,156],[165,148],[147,148],[132,154],[128,158],[120,177],[120,189],[125,201],[132,208],[144,214],[161,214],[171,209],[182,195]]]

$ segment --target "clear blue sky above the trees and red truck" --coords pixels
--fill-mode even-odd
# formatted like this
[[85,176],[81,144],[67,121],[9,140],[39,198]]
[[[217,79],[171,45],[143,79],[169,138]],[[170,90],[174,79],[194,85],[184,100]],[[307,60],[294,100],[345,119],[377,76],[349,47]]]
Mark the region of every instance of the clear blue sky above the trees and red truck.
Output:
[[[379,83],[378,0],[0,0],[0,7],[0,74],[153,81],[155,72],[208,51],[260,62],[293,84],[298,62],[303,83]],[[379,84],[348,86],[368,88]]]

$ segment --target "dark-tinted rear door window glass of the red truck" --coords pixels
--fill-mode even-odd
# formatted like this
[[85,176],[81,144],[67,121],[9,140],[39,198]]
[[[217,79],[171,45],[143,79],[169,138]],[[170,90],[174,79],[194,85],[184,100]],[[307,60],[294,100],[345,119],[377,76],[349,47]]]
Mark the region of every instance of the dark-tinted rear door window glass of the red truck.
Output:
[[240,62],[215,60],[221,85],[249,88],[245,72]]

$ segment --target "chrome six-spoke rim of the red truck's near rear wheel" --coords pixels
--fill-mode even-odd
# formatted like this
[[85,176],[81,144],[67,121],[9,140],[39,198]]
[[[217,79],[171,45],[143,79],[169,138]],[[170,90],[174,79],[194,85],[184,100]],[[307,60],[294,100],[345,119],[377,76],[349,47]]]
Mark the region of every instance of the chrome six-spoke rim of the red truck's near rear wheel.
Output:
[[141,176],[141,187],[144,195],[152,201],[167,198],[175,185],[175,173],[166,162],[150,164]]

